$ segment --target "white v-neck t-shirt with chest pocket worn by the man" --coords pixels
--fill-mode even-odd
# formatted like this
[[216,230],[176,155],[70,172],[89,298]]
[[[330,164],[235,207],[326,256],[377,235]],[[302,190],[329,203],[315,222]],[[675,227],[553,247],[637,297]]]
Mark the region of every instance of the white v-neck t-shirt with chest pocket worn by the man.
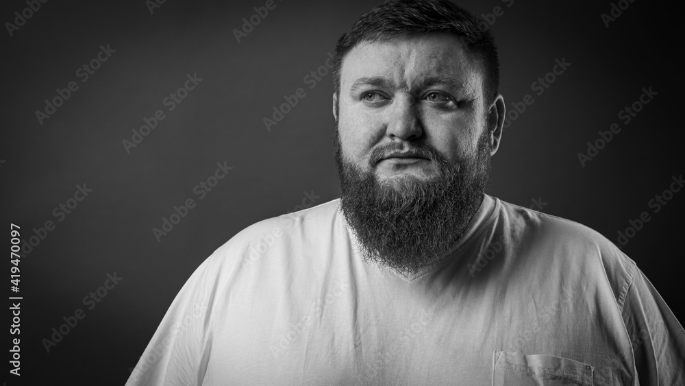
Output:
[[364,261],[339,204],[216,250],[127,385],[685,385],[685,331],[594,230],[486,195],[405,276]]

